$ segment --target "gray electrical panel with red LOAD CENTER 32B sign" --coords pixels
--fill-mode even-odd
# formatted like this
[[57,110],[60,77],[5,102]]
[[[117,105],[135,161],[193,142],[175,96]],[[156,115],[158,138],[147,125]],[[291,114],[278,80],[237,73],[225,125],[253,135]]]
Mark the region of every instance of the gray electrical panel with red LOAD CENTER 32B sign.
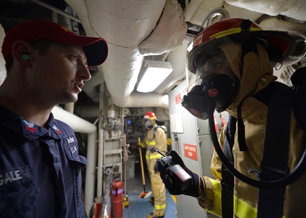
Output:
[[[172,149],[177,151],[185,165],[195,173],[214,178],[211,173],[211,157],[214,146],[209,133],[208,120],[200,120],[181,106],[181,99],[187,95],[186,82],[168,93]],[[227,123],[229,114],[214,113],[217,136]],[[218,217],[202,209],[196,198],[177,195],[177,217]]]

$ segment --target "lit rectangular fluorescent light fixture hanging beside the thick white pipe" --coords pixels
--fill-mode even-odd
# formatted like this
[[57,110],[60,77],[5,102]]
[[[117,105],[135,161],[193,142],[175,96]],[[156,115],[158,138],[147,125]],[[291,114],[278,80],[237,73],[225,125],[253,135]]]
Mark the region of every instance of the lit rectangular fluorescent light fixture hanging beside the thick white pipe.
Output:
[[170,62],[157,60],[144,61],[144,66],[147,66],[147,69],[138,84],[137,91],[152,92],[169,76],[173,69]]

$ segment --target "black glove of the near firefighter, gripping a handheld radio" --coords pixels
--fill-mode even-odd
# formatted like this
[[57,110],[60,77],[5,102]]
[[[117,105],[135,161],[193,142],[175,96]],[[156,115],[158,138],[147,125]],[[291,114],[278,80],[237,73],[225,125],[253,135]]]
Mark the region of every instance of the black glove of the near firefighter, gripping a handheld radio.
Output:
[[199,186],[199,175],[193,173],[185,166],[182,158],[176,153],[176,151],[170,151],[170,155],[172,157],[172,160],[181,165],[181,167],[192,177],[192,182],[188,188],[181,190],[180,185],[172,177],[170,164],[163,164],[161,160],[158,160],[157,169],[160,173],[160,178],[162,178],[162,182],[165,184],[166,189],[168,189],[169,193],[172,195],[185,194],[196,198],[199,197],[199,188],[201,190],[204,189],[203,181],[200,181]]

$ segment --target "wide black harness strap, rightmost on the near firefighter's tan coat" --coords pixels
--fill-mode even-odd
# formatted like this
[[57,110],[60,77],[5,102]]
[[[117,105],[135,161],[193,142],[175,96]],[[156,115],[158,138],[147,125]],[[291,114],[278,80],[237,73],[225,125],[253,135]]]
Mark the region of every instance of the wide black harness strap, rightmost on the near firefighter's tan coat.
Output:
[[[293,89],[275,82],[267,114],[260,181],[277,180],[288,174],[288,144]],[[257,218],[281,218],[285,187],[259,188]]]

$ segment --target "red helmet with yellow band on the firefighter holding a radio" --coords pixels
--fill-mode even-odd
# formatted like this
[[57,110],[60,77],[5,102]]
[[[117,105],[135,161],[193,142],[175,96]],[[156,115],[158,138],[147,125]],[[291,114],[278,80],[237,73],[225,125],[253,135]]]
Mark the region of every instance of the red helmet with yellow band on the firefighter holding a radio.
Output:
[[197,57],[211,46],[229,42],[251,40],[262,44],[269,55],[270,64],[275,67],[282,63],[295,49],[295,40],[279,31],[264,31],[258,24],[244,18],[219,20],[195,36],[193,49],[187,57],[187,70],[196,73]]

